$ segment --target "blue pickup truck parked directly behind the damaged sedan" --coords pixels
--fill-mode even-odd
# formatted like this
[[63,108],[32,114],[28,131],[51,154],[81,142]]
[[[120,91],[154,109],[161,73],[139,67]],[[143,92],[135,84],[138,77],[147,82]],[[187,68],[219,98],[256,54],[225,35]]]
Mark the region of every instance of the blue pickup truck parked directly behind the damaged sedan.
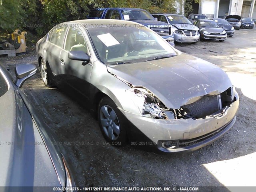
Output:
[[154,17],[144,9],[98,8],[93,9],[87,18],[134,21],[152,29],[154,32],[156,32],[158,35],[168,41],[172,46],[174,46],[172,26],[164,22],[156,21]]

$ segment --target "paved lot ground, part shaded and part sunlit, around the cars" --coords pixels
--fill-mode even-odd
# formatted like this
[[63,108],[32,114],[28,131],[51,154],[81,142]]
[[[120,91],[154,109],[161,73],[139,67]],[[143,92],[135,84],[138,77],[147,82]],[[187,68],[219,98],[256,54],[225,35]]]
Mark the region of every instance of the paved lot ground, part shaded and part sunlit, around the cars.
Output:
[[[60,90],[46,88],[39,71],[23,88],[64,144],[80,186],[256,186],[255,34],[255,28],[241,29],[225,42],[176,45],[220,66],[240,95],[234,127],[194,152],[160,156],[131,146],[109,146],[90,113]],[[37,64],[36,54],[8,58],[6,67],[13,72],[14,64],[22,62]]]

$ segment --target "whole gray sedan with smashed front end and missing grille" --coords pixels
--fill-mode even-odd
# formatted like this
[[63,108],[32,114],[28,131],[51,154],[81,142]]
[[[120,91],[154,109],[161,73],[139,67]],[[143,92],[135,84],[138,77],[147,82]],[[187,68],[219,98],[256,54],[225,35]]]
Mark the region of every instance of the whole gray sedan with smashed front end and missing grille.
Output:
[[111,144],[195,150],[236,120],[238,94],[223,70],[134,22],[62,23],[38,41],[37,54],[44,84],[95,112]]

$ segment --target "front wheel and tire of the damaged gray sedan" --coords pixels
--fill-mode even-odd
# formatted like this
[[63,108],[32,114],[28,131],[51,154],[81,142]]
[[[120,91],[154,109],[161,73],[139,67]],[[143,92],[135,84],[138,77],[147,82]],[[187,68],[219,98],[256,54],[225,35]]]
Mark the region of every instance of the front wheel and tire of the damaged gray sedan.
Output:
[[126,144],[125,118],[116,104],[104,97],[98,106],[98,121],[104,138],[115,146]]

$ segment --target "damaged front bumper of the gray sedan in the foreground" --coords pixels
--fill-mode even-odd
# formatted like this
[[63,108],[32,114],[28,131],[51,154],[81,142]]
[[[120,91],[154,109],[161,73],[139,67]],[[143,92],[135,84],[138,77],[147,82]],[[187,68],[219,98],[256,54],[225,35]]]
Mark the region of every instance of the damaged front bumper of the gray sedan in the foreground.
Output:
[[[198,119],[154,119],[138,116],[122,109],[120,111],[148,138],[153,151],[184,152],[196,150],[214,142],[233,126],[239,107],[237,92],[235,92],[235,98],[234,102],[222,108],[215,116],[209,115]],[[168,147],[164,145],[166,143]]]

